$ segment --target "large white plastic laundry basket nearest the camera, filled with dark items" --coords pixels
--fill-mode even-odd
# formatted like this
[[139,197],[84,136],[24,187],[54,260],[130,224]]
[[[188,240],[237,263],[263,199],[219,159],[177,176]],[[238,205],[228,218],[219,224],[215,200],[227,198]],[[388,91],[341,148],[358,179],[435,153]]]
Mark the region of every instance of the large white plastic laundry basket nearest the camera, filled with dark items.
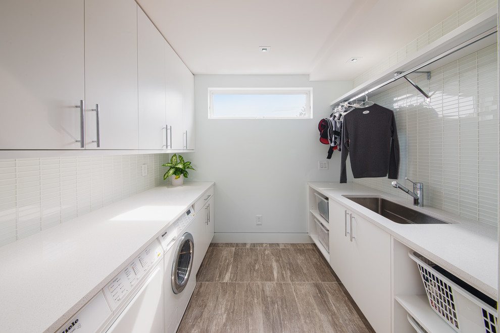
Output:
[[431,308],[457,332],[498,331],[497,303],[417,252],[418,265]]

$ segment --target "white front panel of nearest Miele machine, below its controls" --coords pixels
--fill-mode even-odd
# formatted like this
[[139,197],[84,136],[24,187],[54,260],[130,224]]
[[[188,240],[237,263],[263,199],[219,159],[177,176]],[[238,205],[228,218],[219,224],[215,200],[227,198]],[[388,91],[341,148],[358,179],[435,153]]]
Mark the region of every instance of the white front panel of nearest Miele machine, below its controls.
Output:
[[108,333],[164,333],[163,314],[163,265],[160,265],[120,313]]

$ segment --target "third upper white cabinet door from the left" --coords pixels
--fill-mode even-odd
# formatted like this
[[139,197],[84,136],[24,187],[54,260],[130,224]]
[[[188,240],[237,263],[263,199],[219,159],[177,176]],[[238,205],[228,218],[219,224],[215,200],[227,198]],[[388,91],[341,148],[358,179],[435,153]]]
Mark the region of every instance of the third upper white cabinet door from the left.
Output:
[[137,8],[139,149],[166,149],[165,39]]

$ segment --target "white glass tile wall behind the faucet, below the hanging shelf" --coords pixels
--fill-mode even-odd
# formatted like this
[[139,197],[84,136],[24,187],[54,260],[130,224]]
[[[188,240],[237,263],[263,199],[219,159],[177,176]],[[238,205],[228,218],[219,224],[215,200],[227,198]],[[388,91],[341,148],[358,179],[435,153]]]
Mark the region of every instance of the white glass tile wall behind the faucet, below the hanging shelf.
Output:
[[[498,224],[498,63],[491,45],[370,100],[394,110],[401,145],[399,181],[424,183],[424,204]],[[356,183],[411,198],[387,178]]]

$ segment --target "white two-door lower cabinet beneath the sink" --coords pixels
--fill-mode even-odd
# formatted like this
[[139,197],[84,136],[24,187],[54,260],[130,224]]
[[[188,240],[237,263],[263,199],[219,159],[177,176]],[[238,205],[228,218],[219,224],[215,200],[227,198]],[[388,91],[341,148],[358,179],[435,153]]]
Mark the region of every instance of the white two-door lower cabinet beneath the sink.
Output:
[[377,332],[391,331],[390,235],[330,200],[330,264]]

